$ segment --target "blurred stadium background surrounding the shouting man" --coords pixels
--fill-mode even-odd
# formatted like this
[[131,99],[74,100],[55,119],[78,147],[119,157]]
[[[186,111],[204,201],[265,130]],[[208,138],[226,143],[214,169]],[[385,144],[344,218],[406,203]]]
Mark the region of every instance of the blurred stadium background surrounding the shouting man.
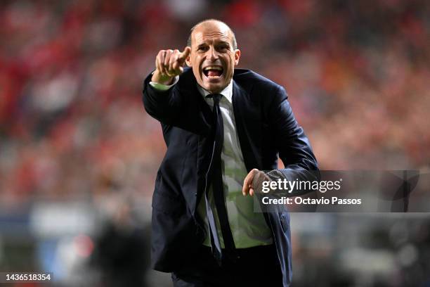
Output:
[[[124,264],[143,274],[136,242],[149,236],[165,146],[142,82],[157,51],[183,49],[204,18],[233,28],[240,68],[287,89],[322,170],[428,172],[429,6],[1,1],[0,271],[51,271],[58,286],[126,286]],[[297,213],[292,236],[294,286],[430,286],[426,213]]]

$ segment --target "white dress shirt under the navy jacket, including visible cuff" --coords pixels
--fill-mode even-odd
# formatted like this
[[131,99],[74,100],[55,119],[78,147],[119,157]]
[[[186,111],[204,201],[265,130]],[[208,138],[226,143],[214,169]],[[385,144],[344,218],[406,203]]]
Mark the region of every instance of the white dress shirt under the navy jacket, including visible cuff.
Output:
[[[155,82],[150,82],[150,85],[155,89],[167,90],[178,82],[178,77],[174,79],[171,85],[163,85]],[[204,97],[204,101],[211,106],[214,106],[212,98],[206,98],[209,91],[206,91],[199,85],[197,89]],[[228,223],[233,234],[236,248],[249,248],[257,245],[268,245],[273,243],[271,229],[266,224],[263,213],[254,212],[254,200],[251,196],[242,195],[242,184],[247,176],[247,169],[243,160],[242,150],[239,144],[239,138],[236,132],[235,115],[233,112],[233,80],[228,84],[226,89],[221,93],[221,101],[219,103],[221,115],[223,117],[224,142],[221,152],[221,167],[223,169],[223,186],[224,198],[226,202]],[[219,218],[216,214],[214,197],[212,196],[212,188],[209,189],[209,201],[214,210],[216,219],[217,231],[221,241],[221,247],[224,247],[223,236],[219,224]],[[204,245],[211,246],[209,236],[209,223],[207,221],[206,203],[200,200],[197,211],[204,221],[207,230],[207,237],[204,240]]]

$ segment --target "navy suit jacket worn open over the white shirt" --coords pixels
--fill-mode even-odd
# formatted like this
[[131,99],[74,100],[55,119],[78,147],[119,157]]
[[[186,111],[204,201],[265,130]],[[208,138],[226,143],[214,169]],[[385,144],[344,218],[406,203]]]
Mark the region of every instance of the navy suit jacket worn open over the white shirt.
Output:
[[[209,167],[211,109],[197,90],[193,70],[185,68],[168,91],[143,85],[145,110],[162,124],[167,153],[157,172],[152,197],[152,267],[175,272],[193,260],[204,241],[197,205]],[[235,69],[233,111],[245,167],[274,170],[278,158],[289,171],[317,170],[303,129],[280,85],[250,70]],[[289,214],[281,205],[264,213],[278,251],[284,286],[292,279]]]

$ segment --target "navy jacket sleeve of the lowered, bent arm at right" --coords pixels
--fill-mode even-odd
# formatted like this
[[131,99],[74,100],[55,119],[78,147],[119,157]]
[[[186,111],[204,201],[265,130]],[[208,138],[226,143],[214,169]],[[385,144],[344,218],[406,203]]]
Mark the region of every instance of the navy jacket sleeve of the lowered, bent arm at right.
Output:
[[308,137],[294,117],[287,93],[280,86],[275,90],[275,98],[269,107],[269,118],[275,133],[279,157],[285,165],[279,172],[287,179],[318,180],[320,178],[318,162],[313,155]]

